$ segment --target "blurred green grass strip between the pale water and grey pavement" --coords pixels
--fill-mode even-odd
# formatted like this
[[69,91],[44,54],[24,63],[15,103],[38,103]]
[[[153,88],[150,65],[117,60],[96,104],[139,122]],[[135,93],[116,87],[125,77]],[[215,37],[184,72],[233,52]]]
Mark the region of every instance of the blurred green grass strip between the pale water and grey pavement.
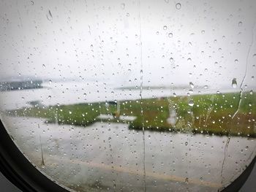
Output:
[[[129,128],[151,131],[181,131],[201,134],[256,136],[256,94],[243,93],[238,112],[239,93],[219,93],[177,96],[161,99],[119,101],[120,114],[115,104],[91,104],[29,107],[7,112],[10,115],[46,118],[75,126],[89,126],[99,121],[129,123]],[[142,111],[143,110],[143,111]],[[175,123],[168,123],[170,112],[175,112]],[[236,115],[233,117],[233,115]],[[99,120],[98,115],[114,119]],[[124,121],[118,115],[132,115],[134,121]]]

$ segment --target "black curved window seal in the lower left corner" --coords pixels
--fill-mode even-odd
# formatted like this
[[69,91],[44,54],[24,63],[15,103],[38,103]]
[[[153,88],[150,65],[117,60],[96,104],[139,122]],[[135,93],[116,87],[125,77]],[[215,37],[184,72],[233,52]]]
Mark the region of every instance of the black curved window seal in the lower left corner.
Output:
[[54,183],[33,166],[12,142],[0,120],[0,171],[21,191],[60,191],[66,189]]

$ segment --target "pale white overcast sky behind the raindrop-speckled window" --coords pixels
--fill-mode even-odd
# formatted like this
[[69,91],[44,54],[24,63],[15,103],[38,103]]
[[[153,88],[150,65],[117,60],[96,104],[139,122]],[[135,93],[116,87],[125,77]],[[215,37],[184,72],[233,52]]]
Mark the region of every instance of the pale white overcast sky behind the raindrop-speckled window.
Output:
[[143,68],[143,85],[219,88],[240,85],[247,63],[252,86],[255,10],[255,0],[1,0],[0,77],[128,86],[140,84]]

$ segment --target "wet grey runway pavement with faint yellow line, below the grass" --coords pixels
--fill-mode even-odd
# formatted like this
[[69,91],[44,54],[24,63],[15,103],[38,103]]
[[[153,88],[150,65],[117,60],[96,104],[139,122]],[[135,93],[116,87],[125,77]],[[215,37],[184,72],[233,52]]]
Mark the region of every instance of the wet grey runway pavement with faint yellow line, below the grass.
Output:
[[83,128],[44,122],[5,118],[31,162],[75,191],[144,191],[144,182],[146,191],[217,191],[255,156],[254,139],[232,137],[225,152],[227,137],[146,131],[144,177],[142,131],[122,123]]

